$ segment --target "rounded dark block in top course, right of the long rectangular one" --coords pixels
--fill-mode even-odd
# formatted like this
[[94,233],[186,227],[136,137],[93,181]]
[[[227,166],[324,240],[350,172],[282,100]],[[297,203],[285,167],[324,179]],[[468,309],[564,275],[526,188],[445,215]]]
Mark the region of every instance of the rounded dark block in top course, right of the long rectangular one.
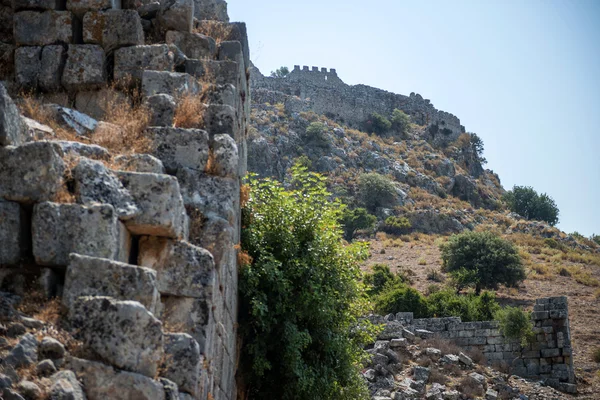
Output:
[[144,44],[144,30],[135,10],[92,11],[83,17],[83,41],[106,52]]

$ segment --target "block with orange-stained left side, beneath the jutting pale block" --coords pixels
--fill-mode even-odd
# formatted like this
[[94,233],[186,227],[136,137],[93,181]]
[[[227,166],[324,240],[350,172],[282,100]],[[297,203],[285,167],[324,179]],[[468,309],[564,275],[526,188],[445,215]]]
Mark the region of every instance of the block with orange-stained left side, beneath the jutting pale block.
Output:
[[146,236],[140,239],[138,264],[156,271],[161,293],[196,298],[212,296],[215,262],[201,247]]

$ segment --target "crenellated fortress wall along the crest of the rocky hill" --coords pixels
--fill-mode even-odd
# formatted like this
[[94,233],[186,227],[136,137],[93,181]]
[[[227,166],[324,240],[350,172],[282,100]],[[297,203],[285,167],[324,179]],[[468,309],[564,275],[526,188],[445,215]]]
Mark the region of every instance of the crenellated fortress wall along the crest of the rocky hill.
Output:
[[251,87],[255,102],[289,102],[292,111],[311,110],[351,126],[360,126],[374,112],[389,117],[394,109],[399,109],[409,114],[414,123],[429,126],[434,142],[451,142],[465,132],[457,117],[437,110],[419,94],[404,96],[366,85],[350,86],[339,78],[333,68],[328,71],[327,68],[300,68],[296,65],[284,78],[263,76],[253,68]]

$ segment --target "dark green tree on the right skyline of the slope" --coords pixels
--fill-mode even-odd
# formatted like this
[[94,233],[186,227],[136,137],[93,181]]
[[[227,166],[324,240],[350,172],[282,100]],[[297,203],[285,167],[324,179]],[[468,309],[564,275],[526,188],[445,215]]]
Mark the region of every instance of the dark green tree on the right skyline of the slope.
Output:
[[546,221],[551,226],[558,223],[558,207],[546,193],[538,194],[529,186],[514,186],[504,195],[504,201],[511,211],[525,219]]

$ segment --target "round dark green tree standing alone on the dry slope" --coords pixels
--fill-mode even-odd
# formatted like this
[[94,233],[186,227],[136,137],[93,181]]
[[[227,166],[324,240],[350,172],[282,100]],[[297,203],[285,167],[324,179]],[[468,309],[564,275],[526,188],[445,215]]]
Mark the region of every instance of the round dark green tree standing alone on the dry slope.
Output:
[[453,235],[440,246],[443,268],[462,286],[497,289],[525,279],[525,269],[515,246],[491,232]]

